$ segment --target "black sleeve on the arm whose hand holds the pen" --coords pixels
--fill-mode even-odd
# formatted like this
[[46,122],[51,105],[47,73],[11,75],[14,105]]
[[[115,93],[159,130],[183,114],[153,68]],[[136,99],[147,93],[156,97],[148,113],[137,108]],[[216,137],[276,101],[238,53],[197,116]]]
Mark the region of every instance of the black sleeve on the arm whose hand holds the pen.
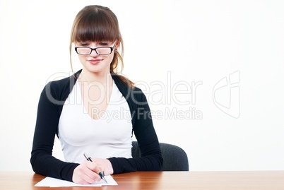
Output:
[[[48,88],[47,88],[48,87]],[[32,170],[47,177],[64,179],[72,182],[76,163],[63,162],[52,156],[54,138],[59,123],[59,105],[52,101],[50,83],[40,95],[37,107],[37,121],[32,143],[30,163]]]

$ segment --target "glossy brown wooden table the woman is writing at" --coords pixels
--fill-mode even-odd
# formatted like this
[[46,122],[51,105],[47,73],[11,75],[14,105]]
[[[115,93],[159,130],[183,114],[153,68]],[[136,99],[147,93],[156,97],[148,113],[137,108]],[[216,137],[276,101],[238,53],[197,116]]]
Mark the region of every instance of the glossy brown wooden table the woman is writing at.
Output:
[[2,190],[88,190],[88,189],[284,189],[284,171],[264,172],[131,172],[112,176],[118,186],[35,187],[44,176],[32,172],[0,172]]

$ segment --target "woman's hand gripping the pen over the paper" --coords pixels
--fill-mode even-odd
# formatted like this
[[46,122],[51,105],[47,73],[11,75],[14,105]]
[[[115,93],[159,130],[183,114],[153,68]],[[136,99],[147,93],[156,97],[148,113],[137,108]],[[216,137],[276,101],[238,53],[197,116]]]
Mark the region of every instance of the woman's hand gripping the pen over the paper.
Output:
[[85,160],[73,171],[72,180],[76,184],[93,184],[99,182],[101,178],[97,173],[104,171],[103,169],[95,162]]

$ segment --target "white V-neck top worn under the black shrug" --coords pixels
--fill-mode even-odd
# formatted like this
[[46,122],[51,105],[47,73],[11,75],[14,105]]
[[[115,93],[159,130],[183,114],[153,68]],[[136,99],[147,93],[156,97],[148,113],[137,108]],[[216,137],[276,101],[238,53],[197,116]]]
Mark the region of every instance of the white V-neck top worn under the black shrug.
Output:
[[66,162],[81,163],[83,153],[95,158],[131,158],[132,124],[126,99],[113,83],[107,110],[91,118],[75,83],[59,119],[59,140]]

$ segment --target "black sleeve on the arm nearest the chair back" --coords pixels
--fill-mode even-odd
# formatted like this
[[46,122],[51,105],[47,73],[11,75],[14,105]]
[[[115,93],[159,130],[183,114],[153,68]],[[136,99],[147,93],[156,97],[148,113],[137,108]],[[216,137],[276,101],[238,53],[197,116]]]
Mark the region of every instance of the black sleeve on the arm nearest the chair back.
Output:
[[132,102],[136,105],[136,109],[131,114],[133,114],[133,129],[140,148],[141,158],[109,158],[114,174],[134,171],[160,171],[162,170],[162,153],[146,96],[141,90],[136,90],[131,96]]

